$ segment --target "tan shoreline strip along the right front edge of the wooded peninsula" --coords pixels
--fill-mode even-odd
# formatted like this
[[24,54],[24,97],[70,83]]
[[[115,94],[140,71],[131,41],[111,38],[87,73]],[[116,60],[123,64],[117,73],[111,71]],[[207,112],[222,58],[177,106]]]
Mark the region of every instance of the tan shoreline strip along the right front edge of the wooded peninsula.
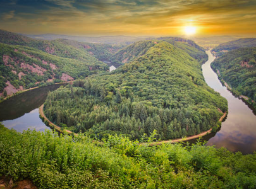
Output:
[[[227,113],[225,112],[221,118],[219,118],[219,122],[222,122],[222,120],[227,116]],[[212,132],[212,128],[202,132],[198,135],[192,135],[190,137],[184,137],[184,138],[180,138],[180,139],[172,139],[172,140],[162,140],[162,141],[157,141],[157,142],[152,142],[150,143],[151,146],[155,146],[155,145],[160,145],[160,144],[165,144],[165,143],[174,143],[174,142],[186,142],[188,140],[192,140],[192,139],[198,139],[199,137],[203,137],[204,135],[210,134],[210,132]],[[141,144],[147,144],[147,142],[143,142]]]

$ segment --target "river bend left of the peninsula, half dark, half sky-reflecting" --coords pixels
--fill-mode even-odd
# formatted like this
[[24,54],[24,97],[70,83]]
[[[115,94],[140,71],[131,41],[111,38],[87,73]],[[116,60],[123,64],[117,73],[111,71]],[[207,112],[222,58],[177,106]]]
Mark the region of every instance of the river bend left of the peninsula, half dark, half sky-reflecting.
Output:
[[18,132],[28,129],[37,131],[50,129],[39,117],[39,106],[46,101],[49,91],[58,89],[61,85],[63,84],[32,89],[3,101],[0,103],[0,122],[4,127]]

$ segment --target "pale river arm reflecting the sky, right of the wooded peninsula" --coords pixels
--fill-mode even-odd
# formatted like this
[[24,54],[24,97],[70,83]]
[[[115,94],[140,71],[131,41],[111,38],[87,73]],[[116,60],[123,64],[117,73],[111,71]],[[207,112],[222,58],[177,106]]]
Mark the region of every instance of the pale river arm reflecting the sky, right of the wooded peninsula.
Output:
[[239,98],[231,94],[212,71],[210,63],[215,57],[207,51],[209,60],[202,65],[205,82],[228,100],[228,117],[222,122],[221,129],[216,134],[205,136],[207,145],[226,147],[229,151],[241,151],[243,154],[256,151],[256,116],[252,110]]

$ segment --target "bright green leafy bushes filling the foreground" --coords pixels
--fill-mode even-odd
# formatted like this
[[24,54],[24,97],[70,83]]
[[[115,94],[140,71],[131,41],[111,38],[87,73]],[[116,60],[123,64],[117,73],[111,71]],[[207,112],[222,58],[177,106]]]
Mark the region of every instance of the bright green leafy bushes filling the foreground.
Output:
[[[147,142],[154,135],[143,138]],[[0,176],[29,179],[38,188],[255,188],[256,154],[224,148],[164,144],[109,135],[104,144],[4,128],[0,124]],[[8,182],[9,182],[8,180]]]

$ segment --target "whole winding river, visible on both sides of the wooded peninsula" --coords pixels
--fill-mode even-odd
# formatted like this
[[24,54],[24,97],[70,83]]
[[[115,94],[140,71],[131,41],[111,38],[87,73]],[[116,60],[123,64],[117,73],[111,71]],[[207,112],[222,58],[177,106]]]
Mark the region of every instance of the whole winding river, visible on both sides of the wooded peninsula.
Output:
[[[207,51],[207,54],[209,60],[202,66],[205,82],[228,100],[228,117],[222,122],[221,129],[217,133],[205,135],[202,139],[207,140],[206,145],[209,146],[226,147],[229,151],[241,151],[243,154],[252,153],[256,151],[256,116],[243,101],[235,98],[226,87],[222,86],[216,73],[210,68],[214,56],[210,51]],[[38,108],[46,100],[48,91],[59,86],[33,89],[0,103],[0,122],[3,122],[5,127],[19,132],[27,129],[39,131],[49,129],[39,118]],[[190,142],[194,141],[190,140]]]

